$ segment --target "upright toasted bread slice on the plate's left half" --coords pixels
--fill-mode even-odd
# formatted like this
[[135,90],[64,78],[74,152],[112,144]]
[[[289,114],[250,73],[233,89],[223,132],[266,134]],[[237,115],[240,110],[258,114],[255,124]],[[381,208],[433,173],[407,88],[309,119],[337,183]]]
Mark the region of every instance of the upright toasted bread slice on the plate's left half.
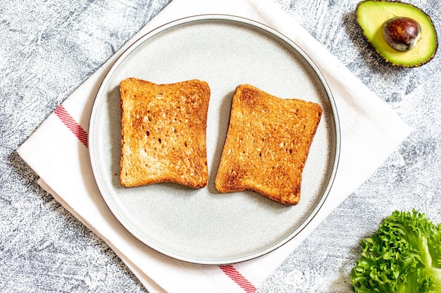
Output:
[[120,82],[120,183],[206,186],[209,98],[209,85],[197,79],[175,84],[135,78]]

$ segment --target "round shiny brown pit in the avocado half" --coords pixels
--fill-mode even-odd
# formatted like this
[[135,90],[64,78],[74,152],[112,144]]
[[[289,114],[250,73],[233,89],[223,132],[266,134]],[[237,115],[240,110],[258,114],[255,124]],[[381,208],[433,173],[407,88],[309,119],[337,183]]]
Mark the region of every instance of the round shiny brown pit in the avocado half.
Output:
[[421,26],[411,18],[390,18],[383,25],[383,36],[392,48],[398,51],[408,51],[418,42],[421,36]]

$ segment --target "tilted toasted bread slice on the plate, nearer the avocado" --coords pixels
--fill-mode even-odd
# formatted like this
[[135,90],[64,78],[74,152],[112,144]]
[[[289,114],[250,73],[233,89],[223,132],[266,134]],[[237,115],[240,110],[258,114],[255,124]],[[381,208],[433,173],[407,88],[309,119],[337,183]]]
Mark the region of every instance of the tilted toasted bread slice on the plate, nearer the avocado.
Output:
[[278,98],[249,84],[237,86],[216,189],[252,190],[283,204],[297,204],[322,112],[316,103]]

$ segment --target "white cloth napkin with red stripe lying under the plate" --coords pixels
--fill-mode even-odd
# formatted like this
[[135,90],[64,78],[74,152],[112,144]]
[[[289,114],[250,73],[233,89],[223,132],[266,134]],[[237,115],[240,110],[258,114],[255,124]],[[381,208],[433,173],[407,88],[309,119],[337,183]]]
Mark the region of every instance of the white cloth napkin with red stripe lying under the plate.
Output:
[[[232,266],[177,261],[150,249],[128,233],[111,214],[97,189],[86,141],[94,96],[106,72],[125,48],[159,25],[206,13],[250,18],[297,43],[327,79],[341,124],[340,165],[335,183],[309,226],[275,251]],[[18,148],[18,153],[39,174],[39,184],[106,241],[149,292],[254,292],[337,205],[380,167],[410,131],[386,103],[273,1],[173,0],[49,115]]]

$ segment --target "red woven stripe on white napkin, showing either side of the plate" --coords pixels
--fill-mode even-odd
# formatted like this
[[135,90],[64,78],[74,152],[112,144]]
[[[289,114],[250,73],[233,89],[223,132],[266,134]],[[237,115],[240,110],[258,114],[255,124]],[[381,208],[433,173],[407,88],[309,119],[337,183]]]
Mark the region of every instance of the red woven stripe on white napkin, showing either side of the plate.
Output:
[[[87,132],[82,129],[80,124],[78,124],[72,116],[70,116],[63,105],[59,105],[58,108],[55,109],[54,113],[87,148]],[[254,287],[249,280],[239,273],[234,266],[219,266],[219,268],[221,268],[225,275],[228,275],[231,280],[244,289],[244,292],[253,293],[256,291],[256,287]]]

